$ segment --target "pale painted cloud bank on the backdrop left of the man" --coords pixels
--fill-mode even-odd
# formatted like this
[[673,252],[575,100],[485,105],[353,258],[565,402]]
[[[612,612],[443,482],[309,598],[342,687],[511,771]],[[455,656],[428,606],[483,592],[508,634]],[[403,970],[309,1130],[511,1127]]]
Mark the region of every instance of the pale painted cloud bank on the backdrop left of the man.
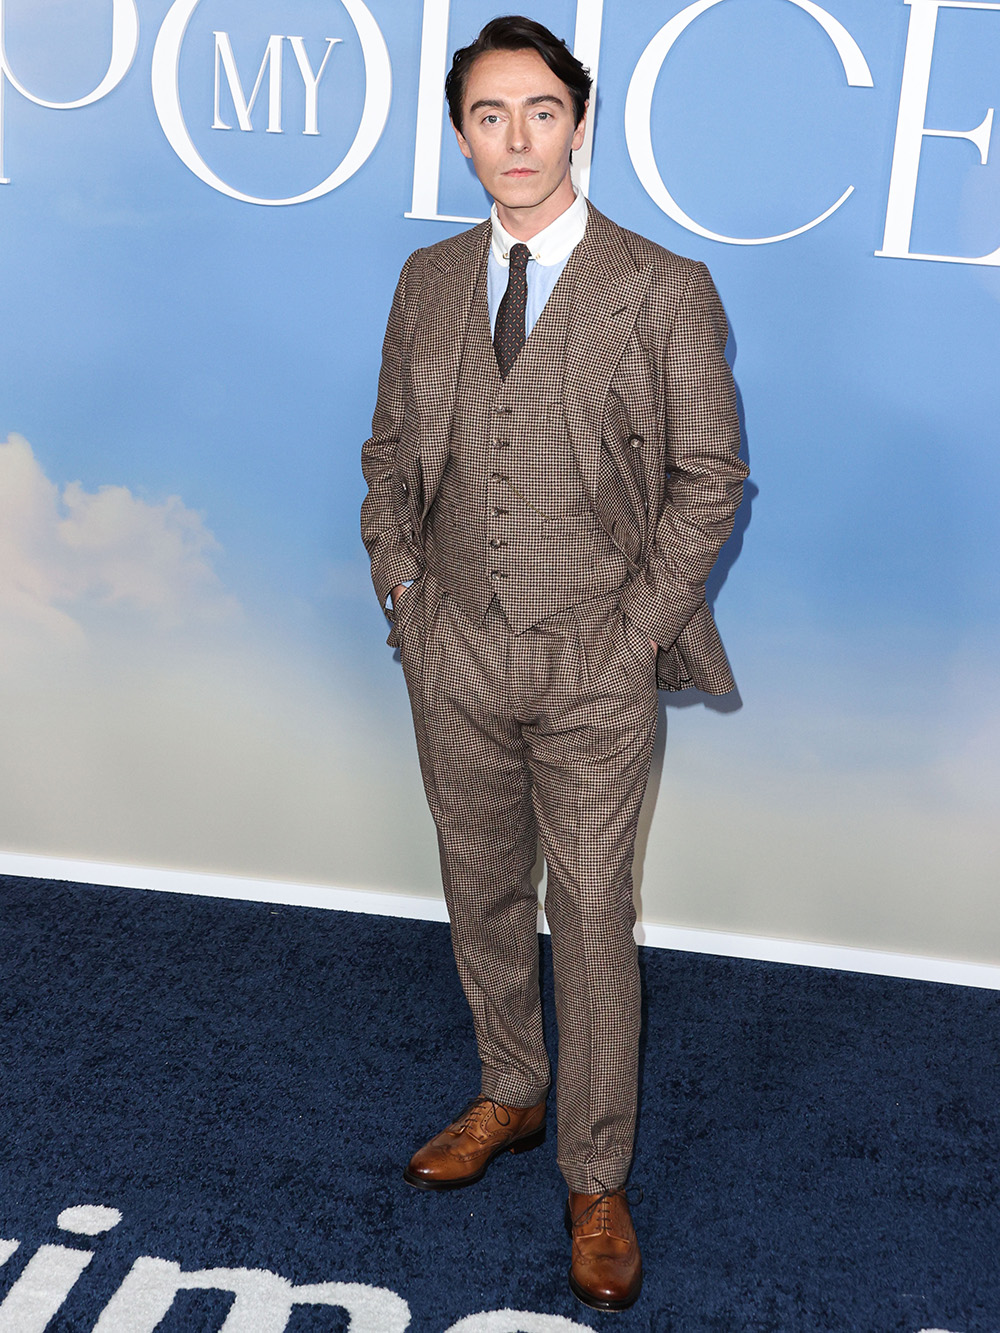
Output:
[[401,681],[371,714],[240,613],[219,549],[177,496],[60,487],[0,443],[0,849],[432,889],[412,745],[373,732],[408,738]]

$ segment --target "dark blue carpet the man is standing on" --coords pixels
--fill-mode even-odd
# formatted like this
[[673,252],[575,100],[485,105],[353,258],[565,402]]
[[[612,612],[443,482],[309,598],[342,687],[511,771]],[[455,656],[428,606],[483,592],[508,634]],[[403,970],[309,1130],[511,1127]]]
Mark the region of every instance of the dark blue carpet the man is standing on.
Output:
[[[643,950],[647,1281],[599,1314],[565,1286],[555,1136],[472,1189],[400,1178],[476,1090],[445,926],[0,878],[0,1297],[40,1245],[95,1253],[48,1333],[91,1333],[140,1256],[387,1289],[411,1333],[1000,1329],[992,992]],[[84,1204],[120,1224],[60,1230]],[[183,1290],[157,1333],[231,1304]]]

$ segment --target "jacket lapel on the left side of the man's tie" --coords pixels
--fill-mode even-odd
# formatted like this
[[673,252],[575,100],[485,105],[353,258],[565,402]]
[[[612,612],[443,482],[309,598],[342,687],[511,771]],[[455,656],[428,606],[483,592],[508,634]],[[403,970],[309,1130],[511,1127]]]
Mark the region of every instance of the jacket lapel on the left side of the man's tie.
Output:
[[485,264],[489,223],[441,247],[428,261],[420,319],[411,352],[413,396],[420,413],[424,475],[421,519],[427,516],[448,461],[455,393],[476,284]]

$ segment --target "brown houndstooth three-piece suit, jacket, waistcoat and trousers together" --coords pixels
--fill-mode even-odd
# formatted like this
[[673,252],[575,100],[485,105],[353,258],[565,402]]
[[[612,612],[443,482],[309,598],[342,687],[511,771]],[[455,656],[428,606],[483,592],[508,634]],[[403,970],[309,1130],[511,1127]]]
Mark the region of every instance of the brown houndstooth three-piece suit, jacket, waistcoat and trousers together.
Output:
[[[411,256],[361,455],[361,532],[383,605],[415,580],[389,643],[401,644],[483,1090],[528,1105],[548,1081],[529,878],[540,837],[560,1029],[559,1158],[585,1193],[620,1185],[632,1148],[631,864],[656,684],[733,685],[704,584],[747,475],[708,271],[593,208],[588,217],[552,315],[547,305],[503,383],[484,332],[489,225]],[[512,460],[489,469],[497,477],[483,469],[495,449]],[[465,469],[457,489],[456,468]],[[525,499],[511,528],[521,549],[507,555],[528,573],[515,597],[515,565],[505,567],[505,591],[469,615],[484,483],[513,483]],[[435,551],[449,505],[459,521]],[[531,508],[567,531],[565,520],[579,520],[587,539],[547,548]],[[479,536],[503,540],[485,527]],[[449,551],[461,559],[448,564]],[[441,552],[444,564],[428,559]],[[649,639],[663,645],[656,676]]]

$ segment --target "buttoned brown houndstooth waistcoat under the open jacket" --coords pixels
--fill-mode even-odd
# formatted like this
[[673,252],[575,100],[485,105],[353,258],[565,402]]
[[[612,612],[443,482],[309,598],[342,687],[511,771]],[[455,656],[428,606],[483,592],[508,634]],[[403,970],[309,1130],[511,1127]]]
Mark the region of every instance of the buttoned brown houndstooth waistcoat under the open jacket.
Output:
[[451,456],[428,516],[428,569],[472,616],[484,616],[496,597],[516,633],[620,589],[629,573],[583,488],[563,416],[572,283],[571,260],[501,381],[483,273],[455,395]]

